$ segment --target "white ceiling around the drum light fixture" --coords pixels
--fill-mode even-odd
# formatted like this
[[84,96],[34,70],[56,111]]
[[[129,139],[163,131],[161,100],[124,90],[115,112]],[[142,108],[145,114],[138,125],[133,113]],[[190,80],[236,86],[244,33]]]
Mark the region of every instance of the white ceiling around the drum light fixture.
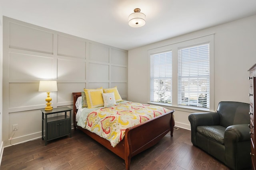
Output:
[[[135,8],[146,25],[133,28]],[[4,16],[129,50],[256,15],[256,0],[0,0]]]

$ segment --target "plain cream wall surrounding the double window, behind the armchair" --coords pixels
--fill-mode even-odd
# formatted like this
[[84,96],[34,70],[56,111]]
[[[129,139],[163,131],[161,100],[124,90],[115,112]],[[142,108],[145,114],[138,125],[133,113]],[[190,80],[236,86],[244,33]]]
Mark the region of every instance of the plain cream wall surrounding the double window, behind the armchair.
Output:
[[[174,25],[175,26],[175,25]],[[128,100],[149,101],[148,50],[214,34],[214,110],[220,101],[249,103],[249,72],[256,63],[256,16],[210,27],[128,51]],[[188,115],[197,110],[175,109],[178,127],[190,129]]]

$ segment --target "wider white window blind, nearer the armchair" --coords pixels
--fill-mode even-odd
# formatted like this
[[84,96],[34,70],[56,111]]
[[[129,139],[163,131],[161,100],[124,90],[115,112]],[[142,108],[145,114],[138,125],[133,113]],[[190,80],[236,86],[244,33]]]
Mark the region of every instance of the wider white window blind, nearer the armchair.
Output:
[[209,109],[209,43],[178,50],[178,105]]

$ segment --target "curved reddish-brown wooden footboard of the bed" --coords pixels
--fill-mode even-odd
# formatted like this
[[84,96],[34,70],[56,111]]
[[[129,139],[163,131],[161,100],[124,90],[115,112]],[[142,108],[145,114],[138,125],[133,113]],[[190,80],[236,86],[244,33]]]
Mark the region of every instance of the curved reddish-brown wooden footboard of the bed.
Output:
[[124,136],[126,170],[130,169],[130,161],[133,156],[158,143],[169,131],[171,131],[172,136],[174,130],[173,113],[174,110],[169,111],[126,129]]

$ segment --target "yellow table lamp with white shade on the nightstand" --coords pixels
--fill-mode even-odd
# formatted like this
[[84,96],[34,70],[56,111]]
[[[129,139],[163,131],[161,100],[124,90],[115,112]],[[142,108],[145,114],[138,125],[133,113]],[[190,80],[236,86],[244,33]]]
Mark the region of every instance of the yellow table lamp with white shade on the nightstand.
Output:
[[40,81],[39,82],[39,89],[38,92],[46,92],[47,98],[45,99],[46,107],[44,110],[52,110],[51,101],[52,98],[50,98],[50,92],[56,92],[57,90],[57,81]]

